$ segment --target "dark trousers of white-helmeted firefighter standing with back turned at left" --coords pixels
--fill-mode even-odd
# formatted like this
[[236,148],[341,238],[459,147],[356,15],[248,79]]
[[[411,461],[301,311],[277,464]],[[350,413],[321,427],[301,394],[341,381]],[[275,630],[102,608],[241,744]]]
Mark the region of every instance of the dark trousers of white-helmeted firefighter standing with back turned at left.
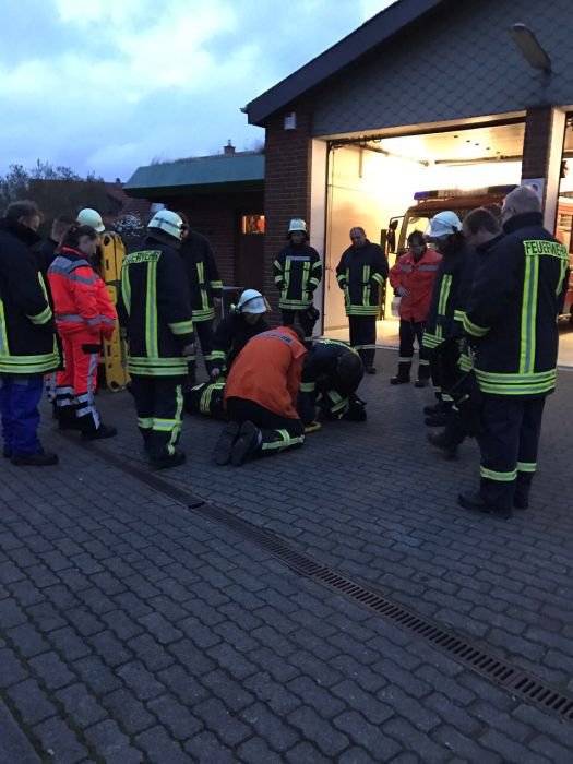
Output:
[[131,378],[138,427],[152,462],[175,455],[181,433],[183,393],[179,377]]

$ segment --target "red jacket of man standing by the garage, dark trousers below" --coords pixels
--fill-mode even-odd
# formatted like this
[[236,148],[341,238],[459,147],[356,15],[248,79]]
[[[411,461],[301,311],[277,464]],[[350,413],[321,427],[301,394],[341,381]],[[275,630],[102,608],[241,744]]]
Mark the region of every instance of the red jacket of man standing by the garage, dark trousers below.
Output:
[[392,287],[404,287],[407,296],[399,301],[399,318],[405,321],[426,321],[432,299],[433,283],[438,272],[441,254],[428,248],[418,262],[411,252],[406,252],[390,268],[389,278]]

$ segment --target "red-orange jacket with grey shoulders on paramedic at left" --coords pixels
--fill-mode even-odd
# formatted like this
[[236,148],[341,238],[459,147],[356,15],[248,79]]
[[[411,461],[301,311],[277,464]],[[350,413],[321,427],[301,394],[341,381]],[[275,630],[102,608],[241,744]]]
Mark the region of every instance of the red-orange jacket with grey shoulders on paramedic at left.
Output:
[[84,254],[71,247],[61,252],[48,271],[53,313],[60,334],[84,332],[89,336],[111,337],[117,313],[106,286]]

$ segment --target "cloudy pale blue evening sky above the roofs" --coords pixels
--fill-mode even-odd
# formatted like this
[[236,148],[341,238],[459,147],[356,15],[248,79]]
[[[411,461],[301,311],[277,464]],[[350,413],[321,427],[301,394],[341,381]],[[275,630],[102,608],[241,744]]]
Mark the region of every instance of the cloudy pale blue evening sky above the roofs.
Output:
[[3,0],[0,172],[127,180],[263,139],[239,111],[391,0]]

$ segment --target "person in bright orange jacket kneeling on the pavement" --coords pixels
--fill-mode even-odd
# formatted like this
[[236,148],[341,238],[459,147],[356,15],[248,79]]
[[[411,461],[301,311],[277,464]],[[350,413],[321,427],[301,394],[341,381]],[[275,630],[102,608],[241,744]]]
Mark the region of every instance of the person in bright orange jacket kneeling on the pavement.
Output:
[[225,387],[229,423],[214,451],[215,463],[241,465],[305,442],[297,413],[307,349],[301,330],[278,326],[253,337],[232,365]]

